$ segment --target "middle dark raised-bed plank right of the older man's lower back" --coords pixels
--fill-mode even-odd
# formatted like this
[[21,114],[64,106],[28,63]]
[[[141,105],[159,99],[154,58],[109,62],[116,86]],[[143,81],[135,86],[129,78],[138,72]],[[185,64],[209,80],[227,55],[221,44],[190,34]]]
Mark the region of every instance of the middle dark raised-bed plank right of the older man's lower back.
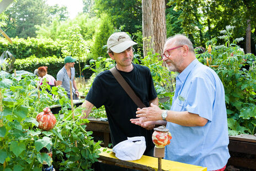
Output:
[[256,154],[256,143],[230,140],[229,151]]

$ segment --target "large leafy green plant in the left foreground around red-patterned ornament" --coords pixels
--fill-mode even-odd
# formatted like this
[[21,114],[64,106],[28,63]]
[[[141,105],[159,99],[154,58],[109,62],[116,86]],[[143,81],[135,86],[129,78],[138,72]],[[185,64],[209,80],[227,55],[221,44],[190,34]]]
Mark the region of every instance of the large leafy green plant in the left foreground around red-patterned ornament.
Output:
[[[0,170],[41,170],[44,162],[49,166],[53,162],[54,167],[59,162],[62,170],[90,170],[97,161],[100,146],[93,142],[86,125],[81,125],[88,121],[79,119],[82,109],[74,110],[73,119],[65,90],[50,89],[44,82],[38,98],[37,82],[38,78],[26,71],[17,71],[16,75],[0,71]],[[60,104],[62,110],[56,115],[54,129],[38,129],[36,115],[55,104]],[[52,149],[54,161],[41,153],[43,148]]]

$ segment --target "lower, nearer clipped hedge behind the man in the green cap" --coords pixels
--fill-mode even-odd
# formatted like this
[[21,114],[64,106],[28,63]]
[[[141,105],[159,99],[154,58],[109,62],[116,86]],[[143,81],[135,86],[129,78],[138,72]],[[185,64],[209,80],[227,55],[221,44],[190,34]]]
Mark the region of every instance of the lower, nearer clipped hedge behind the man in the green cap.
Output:
[[[85,65],[89,65],[89,60],[82,59],[80,63],[81,63],[81,68],[83,69]],[[47,66],[48,67],[47,73],[55,78],[57,76],[58,71],[60,71],[64,65],[65,65],[64,59],[58,58],[57,56],[38,58],[35,55],[33,55],[25,59],[17,59],[14,62],[14,68],[17,71],[24,70],[31,73],[34,73],[34,70],[36,68],[39,68],[41,66]],[[79,76],[78,61],[76,61],[74,68],[76,70],[76,77],[78,77]],[[90,78],[92,73],[93,72],[91,70],[84,70],[83,71],[84,78],[86,79]]]

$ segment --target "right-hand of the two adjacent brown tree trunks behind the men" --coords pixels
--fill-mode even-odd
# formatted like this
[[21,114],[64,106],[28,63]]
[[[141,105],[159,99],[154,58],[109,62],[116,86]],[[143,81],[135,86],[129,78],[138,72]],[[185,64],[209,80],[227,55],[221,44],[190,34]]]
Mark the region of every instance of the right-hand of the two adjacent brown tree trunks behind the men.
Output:
[[158,54],[163,52],[166,42],[166,1],[152,0],[154,51]]

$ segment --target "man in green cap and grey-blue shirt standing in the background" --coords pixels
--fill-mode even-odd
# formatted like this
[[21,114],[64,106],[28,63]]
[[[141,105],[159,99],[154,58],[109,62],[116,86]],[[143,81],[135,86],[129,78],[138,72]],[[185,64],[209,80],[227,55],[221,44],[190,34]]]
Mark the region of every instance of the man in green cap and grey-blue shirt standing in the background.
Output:
[[67,56],[64,59],[65,66],[57,73],[57,86],[62,86],[67,92],[67,97],[70,98],[70,81],[72,84],[73,99],[78,99],[79,93],[76,82],[74,81],[74,61],[75,58]]

